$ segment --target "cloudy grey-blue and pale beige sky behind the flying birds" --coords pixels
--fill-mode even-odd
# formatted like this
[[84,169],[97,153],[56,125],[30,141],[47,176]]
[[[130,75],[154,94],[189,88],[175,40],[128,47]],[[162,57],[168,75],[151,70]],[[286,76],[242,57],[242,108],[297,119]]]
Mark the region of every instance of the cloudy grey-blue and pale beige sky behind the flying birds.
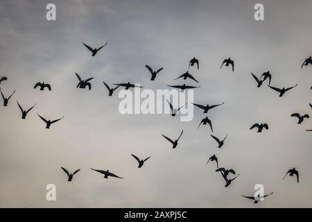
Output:
[[[55,3],[56,21],[46,20],[46,4]],[[312,207],[312,119],[297,125],[293,112],[312,114],[312,2],[261,1],[264,21],[254,20],[259,1],[1,1],[1,89],[16,89],[0,108],[0,207]],[[83,46],[101,46],[95,57]],[[102,81],[166,85],[187,71],[201,86],[196,103],[224,105],[208,113],[214,135],[227,136],[223,148],[209,127],[197,130],[206,115],[195,108],[193,121],[164,114],[120,114],[118,94],[107,96]],[[220,69],[231,57],[235,70]],[[145,65],[164,67],[155,81]],[[279,98],[257,88],[251,72],[272,74],[271,85],[297,87]],[[94,77],[92,90],[77,89],[78,79]],[[52,91],[33,89],[50,83]],[[192,80],[186,80],[194,85]],[[119,91],[119,89],[117,89]],[[26,120],[16,101],[30,108]],[[49,130],[36,112],[64,119]],[[256,133],[253,123],[268,123]],[[175,138],[177,148],[162,137]],[[144,167],[136,160],[148,156]],[[216,164],[240,176],[224,187]],[[81,169],[72,182],[60,167]],[[300,172],[283,180],[288,169]],[[104,179],[94,169],[109,169],[123,180]],[[46,185],[56,186],[56,201],[46,200]],[[262,184],[265,201],[254,205]]]

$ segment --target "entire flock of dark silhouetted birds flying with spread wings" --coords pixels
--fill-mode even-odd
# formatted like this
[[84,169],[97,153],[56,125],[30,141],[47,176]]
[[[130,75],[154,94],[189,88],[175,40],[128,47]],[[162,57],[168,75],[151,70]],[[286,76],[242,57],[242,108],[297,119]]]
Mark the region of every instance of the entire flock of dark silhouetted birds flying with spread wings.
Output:
[[[98,53],[98,51],[100,51],[104,46],[107,45],[107,42],[99,47],[98,49],[96,48],[92,48],[90,46],[88,46],[87,44],[85,44],[83,42],[83,44],[85,45],[85,47],[87,47],[87,49],[89,49],[89,51],[92,52],[92,56],[96,56],[96,54]],[[234,61],[231,59],[231,58],[227,58],[225,60],[223,60],[222,62],[222,65],[220,66],[220,69],[223,67],[223,65],[225,65],[226,67],[229,67],[229,65],[232,66],[232,71],[234,71]],[[302,67],[304,66],[308,66],[308,65],[312,65],[312,58],[311,56],[309,58],[307,58],[306,60],[304,60],[303,64],[302,64]],[[189,62],[189,69],[190,67],[193,67],[193,66],[196,66],[197,69],[200,69],[200,63],[199,63],[199,60],[196,59],[196,58],[192,58]],[[301,67],[301,69],[302,69]],[[148,69],[148,71],[150,71],[150,75],[151,75],[151,78],[150,80],[155,80],[155,78],[157,77],[157,75],[159,74],[160,71],[162,71],[164,68],[160,68],[160,69],[157,69],[157,71],[154,71],[151,67],[149,67],[148,65],[146,65],[146,69]],[[190,73],[189,73],[189,69],[184,73],[182,74],[181,76],[175,78],[174,80],[177,80],[179,78],[183,78],[184,80],[187,80],[187,78],[193,80],[194,82],[196,83],[199,83],[198,80],[196,80],[196,78],[194,78]],[[90,80],[92,80],[93,78],[87,78],[85,80],[83,80],[77,73],[76,73],[76,76],[78,78],[78,85],[76,86],[77,88],[79,87],[80,89],[89,89],[91,90],[92,89],[92,83],[90,83]],[[272,75],[270,74],[270,71],[267,71],[265,73],[263,73],[261,75],[260,78],[258,78],[257,76],[255,76],[254,74],[252,74],[252,77],[254,78],[254,80],[256,80],[257,82],[257,87],[261,87],[261,85],[268,79],[268,87],[270,87],[271,89],[275,90],[276,92],[279,93],[279,96],[284,96],[284,94],[286,92],[288,92],[289,90],[293,89],[294,87],[297,87],[297,84],[292,86],[292,87],[282,87],[282,88],[279,88],[279,87],[272,87],[272,85],[270,85],[271,83],[271,79],[272,79]],[[2,78],[0,78],[0,85],[2,84],[3,81],[6,81],[8,80],[8,78],[6,76],[3,76]],[[112,96],[112,94],[114,93],[114,91],[116,89],[118,89],[119,87],[124,87],[125,89],[130,89],[132,87],[141,87],[139,85],[135,85],[135,84],[132,84],[130,82],[128,83],[118,83],[118,84],[114,84],[115,87],[110,87],[109,85],[107,85],[107,83],[105,83],[103,81],[103,84],[105,85],[105,87],[107,88],[108,90],[108,96]],[[34,89],[37,89],[37,87],[40,87],[40,90],[44,90],[44,89],[49,89],[49,91],[51,91],[52,87],[50,84],[46,84],[46,83],[36,83],[35,86],[34,86]],[[193,86],[193,85],[168,85],[168,87],[174,87],[174,88],[177,88],[177,89],[180,89],[181,91],[182,90],[185,90],[185,89],[193,89],[193,88],[197,88],[197,87],[200,87],[200,86]],[[312,89],[312,87],[311,87]],[[12,94],[10,94],[10,96],[6,97],[4,96],[3,92],[2,92],[2,89],[0,87],[0,92],[1,92],[1,96],[3,98],[3,106],[7,106],[8,105],[8,102],[10,101],[10,99],[12,98],[13,94],[15,94],[15,91],[12,92]],[[171,116],[172,117],[175,117],[175,115],[177,114],[177,112],[184,106],[180,107],[180,108],[173,108],[173,105],[170,103],[170,101],[167,101],[168,102],[168,105],[170,105],[170,108],[171,108]],[[224,103],[220,103],[220,104],[216,104],[216,105],[200,105],[200,104],[196,104],[196,103],[193,103],[193,105],[195,105],[197,108],[200,108],[201,110],[203,110],[203,113],[204,114],[207,114],[209,112],[209,110],[213,109],[213,108],[216,108],[220,105],[223,105]],[[24,110],[24,108],[21,107],[19,101],[17,101],[17,105],[19,107],[19,109],[21,110],[21,119],[26,119],[26,116],[28,114],[28,112],[30,112],[31,110],[33,110],[33,108],[35,108],[35,106],[37,105],[35,103],[35,105],[33,105],[31,108],[28,108],[28,110]],[[185,104],[187,105],[187,104]],[[311,109],[312,109],[312,104],[310,103],[309,104]],[[55,120],[48,120],[48,119],[45,119],[44,117],[42,117],[40,114],[38,114],[38,117],[40,117],[40,119],[42,119],[42,121],[44,121],[44,123],[46,123],[46,128],[49,129],[51,127],[51,125],[53,123],[56,123],[58,121],[60,121],[61,119],[64,118],[61,117],[59,119],[55,119]],[[291,117],[296,117],[298,119],[297,123],[298,124],[301,124],[304,119],[309,119],[309,114],[299,114],[299,113],[293,113],[291,114]],[[202,119],[202,121],[200,121],[200,124],[198,126],[198,128],[201,126],[201,125],[208,125],[210,126],[211,128],[211,132],[214,132],[213,128],[212,128],[212,123],[211,123],[211,120],[208,118],[208,117],[205,117],[204,119]],[[268,130],[269,127],[268,127],[268,123],[254,123],[251,127],[250,127],[250,130],[253,130],[254,128],[257,128],[257,133],[261,133],[263,129],[266,129]],[[312,131],[312,130],[306,130],[306,131]],[[172,144],[172,148],[177,148],[177,145],[178,145],[178,142],[179,142],[179,139],[182,137],[182,134],[183,134],[183,130],[182,132],[180,133],[179,137],[177,137],[177,139],[171,139],[169,137],[167,137],[166,135],[162,135],[166,140],[168,140],[168,142],[170,142]],[[214,136],[214,135],[211,135],[211,137],[217,142],[218,144],[218,148],[222,148],[224,143],[225,143],[225,139],[227,138],[227,135],[225,136],[224,139],[218,139],[218,137]],[[140,159],[139,157],[137,157],[136,155],[132,154],[132,157],[135,158],[135,160],[137,160],[138,162],[138,167],[141,168],[144,166],[144,163],[150,159],[150,157],[147,157],[145,159]],[[239,174],[236,176],[236,172],[234,171],[234,169],[225,169],[223,167],[220,167],[219,168],[219,164],[218,164],[218,157],[216,157],[216,155],[212,155],[211,157],[209,157],[208,161],[207,161],[207,164],[209,164],[209,162],[216,162],[216,172],[220,173],[221,176],[223,177],[223,179],[225,180],[225,187],[229,187],[229,185],[231,185],[231,183],[239,177]],[[206,166],[207,166],[206,164]],[[61,167],[61,169],[64,171],[64,173],[67,174],[67,177],[68,177],[68,181],[71,181],[73,180],[73,176],[76,175],[76,173],[78,173],[80,171],[80,169],[74,171],[73,173],[69,173],[69,171],[67,169],[65,169],[64,167]],[[92,168],[91,168],[92,169]],[[120,178],[120,179],[123,179],[122,177],[120,176],[116,176],[116,174],[114,173],[111,173],[109,170],[101,170],[101,169],[92,169],[93,171],[96,171],[98,173],[101,173],[104,175],[104,178],[108,178],[109,176],[110,177],[114,177],[114,178]],[[297,169],[293,168],[293,169],[289,169],[287,172],[286,172],[286,175],[284,176],[283,180],[286,178],[286,176],[289,174],[289,176],[296,176],[297,177],[297,182],[299,183],[299,171],[297,171]],[[235,177],[233,177],[235,176]],[[272,194],[272,193],[271,193]],[[265,198],[266,196],[270,196],[271,194],[268,194],[268,195],[264,195],[264,196],[258,196],[258,198]],[[243,195],[242,195],[243,196]],[[255,198],[254,196],[243,196],[245,198],[249,198],[251,200],[254,200],[254,203],[258,203],[259,202],[259,199],[258,198]]]

